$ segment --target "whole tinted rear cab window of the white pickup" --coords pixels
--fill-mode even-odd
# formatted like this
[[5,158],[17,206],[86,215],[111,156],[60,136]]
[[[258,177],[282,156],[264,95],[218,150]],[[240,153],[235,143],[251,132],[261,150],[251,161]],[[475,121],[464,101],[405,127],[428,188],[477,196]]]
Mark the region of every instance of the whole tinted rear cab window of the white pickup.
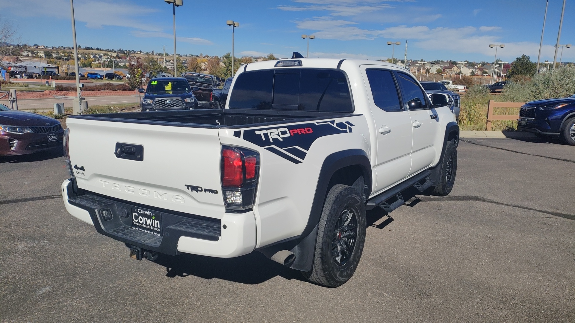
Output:
[[353,111],[346,75],[338,70],[316,68],[241,73],[233,86],[229,107]]

